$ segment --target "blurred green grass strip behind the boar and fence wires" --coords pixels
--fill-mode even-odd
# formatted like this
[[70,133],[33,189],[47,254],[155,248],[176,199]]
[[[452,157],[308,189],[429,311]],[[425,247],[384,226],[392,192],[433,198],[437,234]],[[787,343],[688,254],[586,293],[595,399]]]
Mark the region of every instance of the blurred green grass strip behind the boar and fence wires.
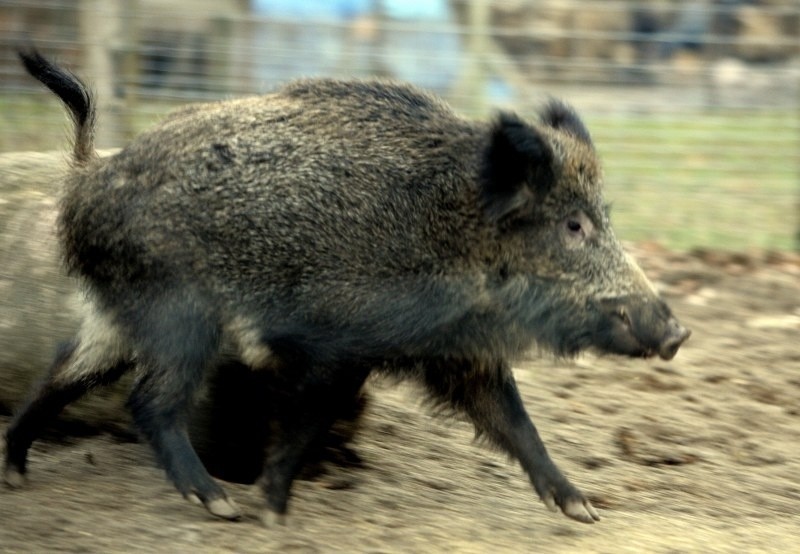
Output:
[[[112,140],[124,144],[174,105],[139,101],[125,120],[130,131]],[[623,240],[673,250],[798,248],[796,111],[595,116],[587,125]],[[68,136],[64,112],[49,97],[0,95],[0,151],[64,149]]]

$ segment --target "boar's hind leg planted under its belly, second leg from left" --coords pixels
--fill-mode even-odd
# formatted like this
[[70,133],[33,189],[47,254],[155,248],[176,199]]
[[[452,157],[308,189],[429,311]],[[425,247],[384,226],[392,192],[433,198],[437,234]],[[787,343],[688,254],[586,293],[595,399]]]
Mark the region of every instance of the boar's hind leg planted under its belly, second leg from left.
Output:
[[198,303],[179,298],[162,298],[143,312],[134,335],[140,372],[128,402],[134,422],[185,498],[237,519],[238,508],[203,467],[186,428],[194,393],[218,348],[218,325]]

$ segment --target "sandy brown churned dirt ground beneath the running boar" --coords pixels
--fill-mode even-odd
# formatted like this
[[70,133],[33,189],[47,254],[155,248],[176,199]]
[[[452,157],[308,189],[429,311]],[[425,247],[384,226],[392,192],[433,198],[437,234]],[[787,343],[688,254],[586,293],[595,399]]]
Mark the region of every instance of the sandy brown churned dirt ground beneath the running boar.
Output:
[[800,257],[635,254],[694,331],[673,361],[515,365],[595,525],[548,512],[415,388],[376,381],[364,467],[297,482],[284,527],[260,526],[254,486],[227,484],[246,517],[215,520],[145,445],[97,434],[36,444],[28,487],[0,489],[0,552],[800,551]]

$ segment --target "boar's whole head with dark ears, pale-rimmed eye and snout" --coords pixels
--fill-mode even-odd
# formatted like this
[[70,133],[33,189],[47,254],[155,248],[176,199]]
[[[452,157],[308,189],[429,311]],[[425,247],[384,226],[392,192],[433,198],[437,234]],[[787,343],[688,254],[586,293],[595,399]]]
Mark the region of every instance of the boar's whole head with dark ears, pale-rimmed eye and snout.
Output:
[[524,282],[519,317],[541,345],[675,356],[690,331],[615,236],[597,154],[571,108],[552,101],[536,124],[500,115],[483,183],[502,273]]

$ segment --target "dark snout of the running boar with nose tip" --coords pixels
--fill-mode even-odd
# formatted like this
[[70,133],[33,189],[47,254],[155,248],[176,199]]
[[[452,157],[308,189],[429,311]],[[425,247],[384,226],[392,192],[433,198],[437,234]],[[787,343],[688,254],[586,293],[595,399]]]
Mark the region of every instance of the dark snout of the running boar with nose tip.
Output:
[[600,302],[595,345],[604,352],[671,360],[692,332],[660,299],[627,296]]

